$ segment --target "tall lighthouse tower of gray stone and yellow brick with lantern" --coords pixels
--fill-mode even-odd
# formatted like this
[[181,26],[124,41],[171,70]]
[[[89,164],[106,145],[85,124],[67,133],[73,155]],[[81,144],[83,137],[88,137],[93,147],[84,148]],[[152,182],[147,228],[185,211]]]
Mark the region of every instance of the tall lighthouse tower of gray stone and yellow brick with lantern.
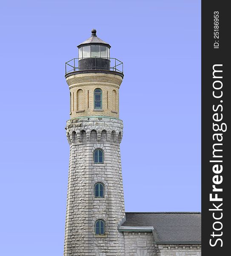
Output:
[[64,256],[123,256],[125,221],[119,89],[123,63],[92,29],[66,62],[70,144]]

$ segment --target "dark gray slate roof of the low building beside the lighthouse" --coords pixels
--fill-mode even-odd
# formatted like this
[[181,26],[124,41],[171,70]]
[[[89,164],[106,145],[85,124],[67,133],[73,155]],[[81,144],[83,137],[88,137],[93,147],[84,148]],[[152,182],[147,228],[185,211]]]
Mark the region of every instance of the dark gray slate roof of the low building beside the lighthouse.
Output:
[[123,227],[154,227],[154,239],[161,243],[201,243],[200,212],[126,212]]

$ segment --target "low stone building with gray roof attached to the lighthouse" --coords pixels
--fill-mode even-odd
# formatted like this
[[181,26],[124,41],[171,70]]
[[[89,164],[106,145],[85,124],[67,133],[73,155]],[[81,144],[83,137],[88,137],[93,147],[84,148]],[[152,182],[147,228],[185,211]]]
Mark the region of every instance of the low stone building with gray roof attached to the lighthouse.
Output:
[[201,256],[200,212],[126,212],[127,256]]

